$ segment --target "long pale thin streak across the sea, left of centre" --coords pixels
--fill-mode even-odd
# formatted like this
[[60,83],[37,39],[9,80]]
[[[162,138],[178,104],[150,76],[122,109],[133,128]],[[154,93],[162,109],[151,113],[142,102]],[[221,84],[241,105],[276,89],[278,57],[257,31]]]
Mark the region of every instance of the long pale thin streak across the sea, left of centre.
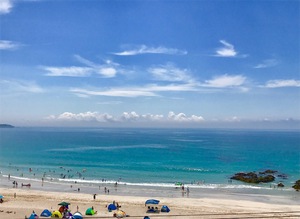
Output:
[[124,146],[81,146],[81,147],[72,147],[72,148],[53,148],[48,149],[46,151],[64,151],[64,152],[82,152],[82,151],[90,151],[90,150],[121,150],[121,149],[132,149],[132,148],[167,148],[167,146],[159,145],[159,144],[149,144],[149,145],[124,145]]

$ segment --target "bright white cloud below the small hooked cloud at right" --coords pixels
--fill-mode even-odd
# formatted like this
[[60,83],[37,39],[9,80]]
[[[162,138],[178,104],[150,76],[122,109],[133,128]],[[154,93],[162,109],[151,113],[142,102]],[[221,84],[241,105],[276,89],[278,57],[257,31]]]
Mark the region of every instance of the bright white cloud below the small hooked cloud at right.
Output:
[[214,87],[214,88],[226,88],[226,87],[239,87],[243,85],[246,81],[246,77],[242,75],[221,75],[214,77],[211,80],[206,80],[204,87]]

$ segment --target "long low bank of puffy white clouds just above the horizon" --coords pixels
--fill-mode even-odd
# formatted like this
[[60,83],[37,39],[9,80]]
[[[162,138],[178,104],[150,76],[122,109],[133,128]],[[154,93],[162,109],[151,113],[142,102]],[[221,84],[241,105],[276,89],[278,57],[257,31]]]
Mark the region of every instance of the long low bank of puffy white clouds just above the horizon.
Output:
[[163,115],[158,114],[138,114],[134,111],[132,112],[123,112],[120,116],[112,116],[107,113],[99,113],[99,112],[84,112],[84,113],[71,113],[64,112],[60,115],[49,115],[47,120],[52,121],[70,121],[70,122],[78,122],[78,121],[97,121],[97,122],[192,122],[198,123],[203,122],[204,118],[202,116],[187,116],[184,113],[175,114],[174,112],[169,112],[169,114],[165,117]]

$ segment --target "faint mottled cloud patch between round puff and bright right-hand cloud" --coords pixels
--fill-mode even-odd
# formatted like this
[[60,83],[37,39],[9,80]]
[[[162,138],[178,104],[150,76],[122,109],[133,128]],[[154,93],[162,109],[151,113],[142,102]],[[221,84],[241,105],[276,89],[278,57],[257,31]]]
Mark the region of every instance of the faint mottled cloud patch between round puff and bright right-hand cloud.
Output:
[[187,69],[176,68],[173,64],[166,64],[158,67],[149,68],[148,72],[154,76],[154,79],[173,82],[194,82]]

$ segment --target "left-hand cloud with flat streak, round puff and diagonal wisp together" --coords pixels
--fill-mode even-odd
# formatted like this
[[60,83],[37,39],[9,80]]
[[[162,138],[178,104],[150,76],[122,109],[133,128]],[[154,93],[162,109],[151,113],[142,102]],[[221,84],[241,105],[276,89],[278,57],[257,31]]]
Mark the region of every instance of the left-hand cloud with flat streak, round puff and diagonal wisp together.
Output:
[[105,61],[104,64],[95,64],[79,55],[74,55],[74,57],[78,62],[85,66],[42,66],[41,68],[48,72],[45,74],[46,76],[56,77],[88,77],[92,74],[98,74],[104,78],[112,78],[115,77],[119,71],[119,65],[110,60]]

